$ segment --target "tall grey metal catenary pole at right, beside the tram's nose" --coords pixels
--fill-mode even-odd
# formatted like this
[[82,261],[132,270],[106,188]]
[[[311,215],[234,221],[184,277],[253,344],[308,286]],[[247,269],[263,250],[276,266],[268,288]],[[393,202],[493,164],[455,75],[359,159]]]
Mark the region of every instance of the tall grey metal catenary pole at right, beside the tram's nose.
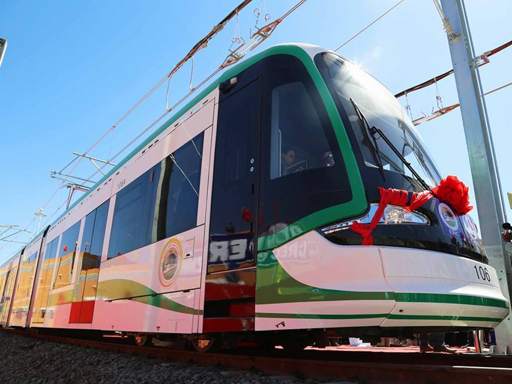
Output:
[[[510,298],[510,255],[501,238],[506,221],[489,119],[463,0],[441,0],[464,134],[475,188],[478,219],[489,264],[496,268],[503,294]],[[512,353],[511,314],[496,328],[498,353]]]

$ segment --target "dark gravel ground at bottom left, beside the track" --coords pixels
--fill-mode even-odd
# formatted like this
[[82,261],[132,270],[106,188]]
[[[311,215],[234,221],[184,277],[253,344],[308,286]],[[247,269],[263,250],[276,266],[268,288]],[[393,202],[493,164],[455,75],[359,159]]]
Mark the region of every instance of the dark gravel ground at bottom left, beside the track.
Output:
[[317,383],[147,359],[0,333],[0,383]]

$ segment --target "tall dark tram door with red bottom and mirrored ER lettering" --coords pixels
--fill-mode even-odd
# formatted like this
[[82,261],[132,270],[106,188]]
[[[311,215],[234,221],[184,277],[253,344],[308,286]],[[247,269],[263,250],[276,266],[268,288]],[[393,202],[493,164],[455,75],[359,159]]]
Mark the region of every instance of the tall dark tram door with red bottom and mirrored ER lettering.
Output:
[[204,332],[254,329],[261,103],[260,81],[250,75],[220,88]]

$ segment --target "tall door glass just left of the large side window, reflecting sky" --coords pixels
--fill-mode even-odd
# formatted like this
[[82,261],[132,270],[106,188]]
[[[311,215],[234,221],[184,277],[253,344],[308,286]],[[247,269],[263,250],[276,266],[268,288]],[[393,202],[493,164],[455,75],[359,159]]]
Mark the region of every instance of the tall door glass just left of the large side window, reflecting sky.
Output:
[[109,202],[105,201],[85,217],[82,271],[100,266]]

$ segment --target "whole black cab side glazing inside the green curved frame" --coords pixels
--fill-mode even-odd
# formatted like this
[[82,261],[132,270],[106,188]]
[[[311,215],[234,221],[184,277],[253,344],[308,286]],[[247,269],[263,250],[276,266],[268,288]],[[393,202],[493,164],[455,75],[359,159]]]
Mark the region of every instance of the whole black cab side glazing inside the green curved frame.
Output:
[[258,233],[271,235],[352,193],[324,99],[304,64],[290,55],[269,58],[263,95]]

